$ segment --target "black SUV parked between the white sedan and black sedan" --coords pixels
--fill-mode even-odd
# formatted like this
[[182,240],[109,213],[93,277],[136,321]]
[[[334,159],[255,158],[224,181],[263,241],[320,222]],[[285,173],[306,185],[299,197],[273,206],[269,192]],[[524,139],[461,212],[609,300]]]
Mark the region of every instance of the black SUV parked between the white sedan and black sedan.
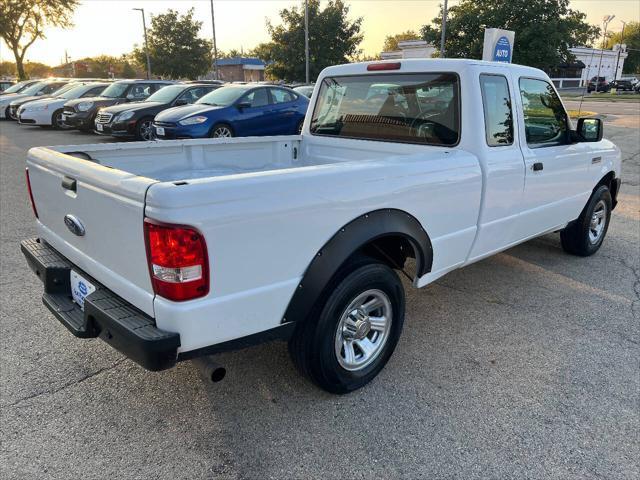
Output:
[[64,104],[62,119],[71,127],[83,131],[94,128],[98,110],[111,105],[128,102],[141,102],[156,91],[174,82],[165,80],[121,80],[109,85],[99,97],[79,98]]

